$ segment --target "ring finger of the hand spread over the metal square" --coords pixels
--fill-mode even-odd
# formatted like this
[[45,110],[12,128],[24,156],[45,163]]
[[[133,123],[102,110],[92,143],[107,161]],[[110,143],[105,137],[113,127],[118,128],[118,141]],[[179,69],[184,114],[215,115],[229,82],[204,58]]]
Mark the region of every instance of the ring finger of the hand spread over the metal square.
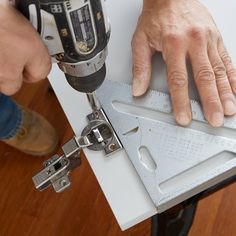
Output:
[[230,86],[226,67],[219,56],[217,47],[211,45],[208,50],[208,55],[215,74],[218,94],[224,109],[224,114],[234,115],[236,113],[236,99]]

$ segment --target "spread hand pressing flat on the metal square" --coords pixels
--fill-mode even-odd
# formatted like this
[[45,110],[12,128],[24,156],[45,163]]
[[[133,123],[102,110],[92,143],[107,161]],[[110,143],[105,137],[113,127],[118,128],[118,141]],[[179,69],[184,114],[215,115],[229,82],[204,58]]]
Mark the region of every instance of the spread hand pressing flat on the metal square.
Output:
[[161,51],[176,121],[191,122],[186,59],[206,119],[214,127],[236,113],[236,70],[208,10],[197,0],[144,0],[132,41],[133,95],[144,94],[151,78],[151,58]]

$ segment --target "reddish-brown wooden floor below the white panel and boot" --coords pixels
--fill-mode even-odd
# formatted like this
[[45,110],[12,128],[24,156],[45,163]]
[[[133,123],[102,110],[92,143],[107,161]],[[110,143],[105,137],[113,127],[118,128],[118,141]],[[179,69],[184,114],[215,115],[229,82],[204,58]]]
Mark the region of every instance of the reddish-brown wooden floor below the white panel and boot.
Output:
[[[25,85],[15,96],[20,104],[40,112],[54,124],[60,142],[73,133],[48,82]],[[82,166],[72,174],[73,185],[62,194],[38,192],[31,177],[48,157],[32,157],[0,143],[1,236],[148,236],[150,220],[122,232],[92,173]],[[190,236],[236,235],[236,184],[201,200]]]

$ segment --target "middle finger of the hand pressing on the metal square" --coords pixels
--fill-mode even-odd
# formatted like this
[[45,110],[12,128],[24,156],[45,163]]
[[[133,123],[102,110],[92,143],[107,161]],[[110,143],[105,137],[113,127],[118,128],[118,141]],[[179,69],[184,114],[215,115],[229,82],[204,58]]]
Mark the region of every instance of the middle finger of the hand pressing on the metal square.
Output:
[[189,56],[205,117],[212,126],[220,127],[223,124],[224,113],[207,49],[201,44],[195,45]]

